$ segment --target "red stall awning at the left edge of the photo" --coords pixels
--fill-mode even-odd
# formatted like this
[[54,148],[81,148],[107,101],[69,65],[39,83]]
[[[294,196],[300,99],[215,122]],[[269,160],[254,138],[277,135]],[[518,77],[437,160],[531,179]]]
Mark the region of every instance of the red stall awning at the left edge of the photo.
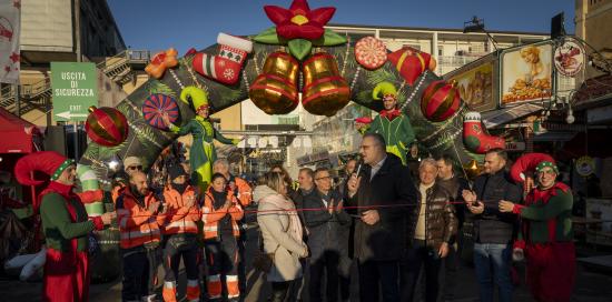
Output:
[[32,137],[40,131],[34,124],[0,108],[0,153],[30,153],[36,151]]

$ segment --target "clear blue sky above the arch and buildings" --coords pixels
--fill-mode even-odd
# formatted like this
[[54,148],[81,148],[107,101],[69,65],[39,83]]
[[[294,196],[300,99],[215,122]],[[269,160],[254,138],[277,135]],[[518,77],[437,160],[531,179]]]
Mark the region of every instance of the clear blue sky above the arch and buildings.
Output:
[[[126,46],[179,54],[216,43],[219,32],[246,36],[274,23],[264,6],[290,0],[107,0]],[[310,9],[335,7],[329,23],[463,29],[477,16],[490,31],[550,32],[551,18],[565,12],[574,32],[574,0],[309,0]]]

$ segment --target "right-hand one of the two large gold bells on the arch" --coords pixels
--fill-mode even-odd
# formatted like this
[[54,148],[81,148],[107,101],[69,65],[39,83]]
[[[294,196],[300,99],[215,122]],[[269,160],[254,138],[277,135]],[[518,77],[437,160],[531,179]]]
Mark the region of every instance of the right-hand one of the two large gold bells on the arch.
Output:
[[351,100],[351,89],[338,71],[334,56],[313,54],[304,62],[304,91],[302,104],[306,111],[332,117]]

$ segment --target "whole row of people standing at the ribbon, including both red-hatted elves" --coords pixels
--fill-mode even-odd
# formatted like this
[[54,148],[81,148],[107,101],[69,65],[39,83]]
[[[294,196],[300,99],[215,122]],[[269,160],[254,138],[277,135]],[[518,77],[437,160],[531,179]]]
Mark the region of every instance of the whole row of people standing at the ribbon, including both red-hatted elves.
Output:
[[[164,301],[177,301],[181,259],[187,301],[244,300],[247,261],[265,273],[269,301],[351,301],[352,278],[357,278],[359,301],[418,301],[419,294],[425,301],[452,301],[466,220],[473,223],[481,301],[494,301],[495,288],[500,301],[512,301],[512,262],[521,258],[527,261],[535,300],[569,301],[572,292],[572,193],[556,181],[551,161],[537,164],[535,187],[527,192],[510,177],[503,150],[490,150],[484,172],[468,182],[454,171],[451,157],[423,159],[411,171],[387,152],[381,134],[366,133],[361,160],[349,160],[337,183],[327,168],[303,168],[294,187],[276,165],[251,187],[218,159],[201,191],[190,184],[189,165],[180,161],[166,162],[166,180],[151,188],[141,160],[129,157],[111,194],[116,212],[88,218],[81,197],[72,193],[73,161],[45,153],[52,160],[19,163],[24,172],[18,178],[31,181],[32,170],[51,177],[40,202],[51,251],[45,272],[50,301],[87,300],[87,236],[115,218],[124,301],[155,301],[158,284]],[[256,213],[257,254],[246,253],[246,212]]]

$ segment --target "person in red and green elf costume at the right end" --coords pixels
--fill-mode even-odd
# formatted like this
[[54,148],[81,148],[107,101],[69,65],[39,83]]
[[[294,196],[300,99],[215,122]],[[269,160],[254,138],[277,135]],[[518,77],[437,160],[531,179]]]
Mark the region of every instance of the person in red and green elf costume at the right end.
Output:
[[[559,169],[542,161],[536,169],[536,183],[525,204],[500,202],[500,211],[521,218],[521,232],[513,256],[526,258],[527,285],[536,301],[570,301],[575,280],[570,188],[556,181]],[[524,251],[524,253],[523,253]]]

